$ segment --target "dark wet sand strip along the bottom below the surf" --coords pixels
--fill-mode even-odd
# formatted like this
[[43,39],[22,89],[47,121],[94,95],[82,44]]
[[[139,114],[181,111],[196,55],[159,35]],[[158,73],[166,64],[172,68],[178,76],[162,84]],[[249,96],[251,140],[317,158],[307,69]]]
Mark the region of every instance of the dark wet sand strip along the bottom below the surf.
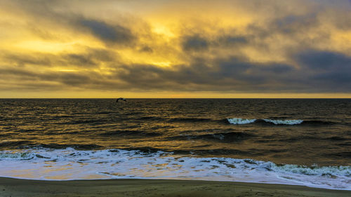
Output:
[[0,196],[351,196],[351,191],[282,184],[194,180],[38,181],[0,178]]

